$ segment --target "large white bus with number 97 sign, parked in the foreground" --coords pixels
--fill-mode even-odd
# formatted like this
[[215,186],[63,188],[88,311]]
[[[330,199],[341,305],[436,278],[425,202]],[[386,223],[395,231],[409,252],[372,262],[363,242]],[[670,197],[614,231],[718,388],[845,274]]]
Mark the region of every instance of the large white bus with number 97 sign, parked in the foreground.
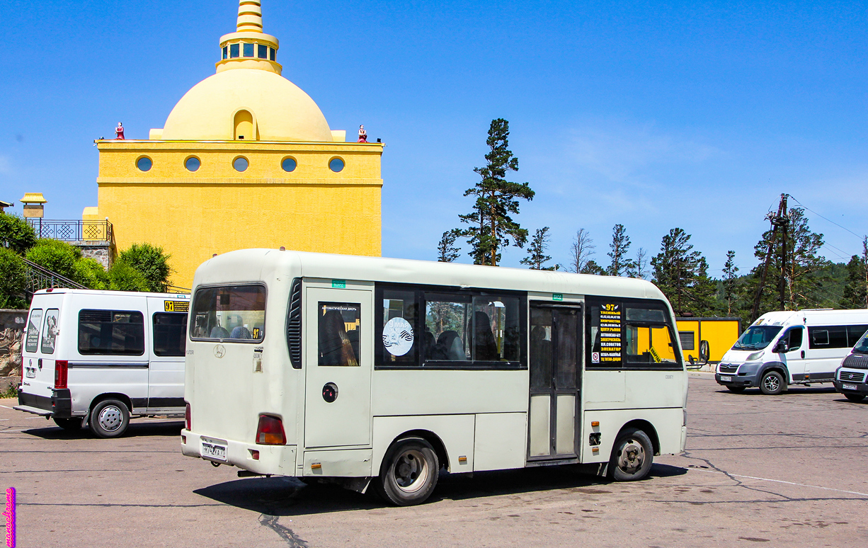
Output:
[[181,450],[396,505],[441,467],[642,479],[684,449],[674,325],[648,281],[233,251],[196,270]]

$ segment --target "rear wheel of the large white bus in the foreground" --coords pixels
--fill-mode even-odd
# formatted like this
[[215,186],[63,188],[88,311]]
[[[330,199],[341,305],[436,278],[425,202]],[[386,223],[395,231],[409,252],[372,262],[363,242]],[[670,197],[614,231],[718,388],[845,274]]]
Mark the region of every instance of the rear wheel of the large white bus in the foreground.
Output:
[[437,452],[430,443],[422,438],[398,439],[380,466],[379,495],[392,505],[421,504],[434,491],[439,472]]

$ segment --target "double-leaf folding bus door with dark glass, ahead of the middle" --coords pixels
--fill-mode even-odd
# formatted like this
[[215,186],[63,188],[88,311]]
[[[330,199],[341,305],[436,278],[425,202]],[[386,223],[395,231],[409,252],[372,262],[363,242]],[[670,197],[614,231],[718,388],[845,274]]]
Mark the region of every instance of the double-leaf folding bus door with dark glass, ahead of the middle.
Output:
[[582,307],[530,305],[528,459],[578,456]]

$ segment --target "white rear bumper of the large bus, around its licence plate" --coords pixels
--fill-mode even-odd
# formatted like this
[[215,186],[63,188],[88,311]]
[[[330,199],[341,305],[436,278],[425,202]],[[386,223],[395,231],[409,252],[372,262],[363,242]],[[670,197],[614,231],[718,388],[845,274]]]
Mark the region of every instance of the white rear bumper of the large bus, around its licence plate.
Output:
[[[202,444],[226,447],[226,459],[203,455]],[[232,439],[218,439],[187,429],[181,430],[181,453],[187,457],[237,466],[258,474],[295,476],[295,446],[260,446]]]

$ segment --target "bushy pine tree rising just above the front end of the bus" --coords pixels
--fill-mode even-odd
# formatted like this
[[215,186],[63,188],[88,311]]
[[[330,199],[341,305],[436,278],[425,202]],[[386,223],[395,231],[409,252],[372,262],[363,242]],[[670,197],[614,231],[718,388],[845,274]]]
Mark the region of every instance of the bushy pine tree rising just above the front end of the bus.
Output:
[[681,228],[663,236],[661,252],[651,259],[654,283],[666,294],[675,314],[707,315],[712,311],[714,281],[708,278],[708,263],[689,243]]

